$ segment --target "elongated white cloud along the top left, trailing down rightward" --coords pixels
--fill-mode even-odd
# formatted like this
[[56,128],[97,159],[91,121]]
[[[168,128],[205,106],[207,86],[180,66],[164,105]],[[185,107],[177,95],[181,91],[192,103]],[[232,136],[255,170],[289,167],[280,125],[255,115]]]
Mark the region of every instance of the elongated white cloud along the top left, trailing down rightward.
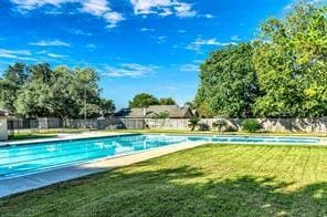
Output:
[[41,8],[43,6],[52,6],[60,8],[65,3],[78,3],[80,11],[95,17],[103,18],[108,24],[107,28],[115,28],[117,23],[125,20],[123,14],[113,11],[107,0],[10,0],[17,4],[20,12],[27,12]]

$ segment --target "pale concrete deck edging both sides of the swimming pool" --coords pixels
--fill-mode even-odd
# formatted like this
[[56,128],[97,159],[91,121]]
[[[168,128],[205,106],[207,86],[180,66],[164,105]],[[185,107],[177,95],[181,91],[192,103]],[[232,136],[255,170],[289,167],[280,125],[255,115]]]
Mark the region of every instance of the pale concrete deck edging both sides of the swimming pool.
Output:
[[[54,141],[68,141],[78,138],[92,138],[92,137],[107,137],[117,135],[135,135],[134,133],[82,133],[82,134],[64,134],[54,138],[42,138],[42,140],[28,140],[19,142],[4,142],[1,145],[20,145],[27,143],[42,143],[42,142],[54,142]],[[0,180],[0,198],[10,196],[12,194],[23,193],[27,190],[45,187],[60,182],[65,182],[82,176],[96,174],[99,172],[109,170],[113,168],[127,166],[138,162],[147,161],[154,157],[171,154],[178,151],[197,147],[208,142],[184,142],[169,146],[157,147],[154,149],[147,149],[139,153],[133,153],[128,155],[119,155],[110,158],[98,159],[91,163],[85,163],[75,166],[67,166],[63,168],[51,169],[48,172],[41,172],[38,174],[27,175],[22,177],[8,178]],[[256,144],[260,145],[260,144]],[[274,144],[278,145],[278,144]],[[285,144],[284,144],[285,145]],[[289,144],[292,145],[292,144]],[[305,145],[305,144],[304,144]],[[327,145],[326,140],[321,140],[320,143],[315,145]]]

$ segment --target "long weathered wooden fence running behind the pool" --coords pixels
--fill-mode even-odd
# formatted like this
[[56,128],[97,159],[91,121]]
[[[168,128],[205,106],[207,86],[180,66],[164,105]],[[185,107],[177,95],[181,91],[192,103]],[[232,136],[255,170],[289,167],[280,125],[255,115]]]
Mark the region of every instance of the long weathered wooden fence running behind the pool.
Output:
[[[212,124],[218,118],[202,118],[201,124],[213,128]],[[225,120],[226,131],[240,131],[244,120]],[[327,117],[320,118],[257,118],[263,132],[307,132],[327,133]],[[21,132],[22,130],[46,130],[46,128],[159,128],[159,130],[189,130],[189,118],[106,118],[106,120],[67,120],[63,123],[60,118],[39,118],[39,120],[9,120],[9,132]]]

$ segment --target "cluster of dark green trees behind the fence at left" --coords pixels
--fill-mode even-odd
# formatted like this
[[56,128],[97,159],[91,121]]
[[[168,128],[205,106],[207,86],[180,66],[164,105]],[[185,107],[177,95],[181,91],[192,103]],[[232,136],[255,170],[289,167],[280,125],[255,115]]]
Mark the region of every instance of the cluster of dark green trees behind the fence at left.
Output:
[[14,63],[0,79],[0,107],[24,117],[106,115],[115,111],[115,104],[99,96],[97,82],[97,73],[89,68]]

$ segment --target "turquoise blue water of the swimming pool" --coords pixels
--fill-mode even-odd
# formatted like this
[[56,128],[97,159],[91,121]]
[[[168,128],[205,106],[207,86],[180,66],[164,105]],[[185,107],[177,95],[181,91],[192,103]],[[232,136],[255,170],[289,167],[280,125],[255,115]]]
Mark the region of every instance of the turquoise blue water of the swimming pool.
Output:
[[0,179],[137,153],[181,142],[316,144],[315,138],[128,135],[0,147]]

